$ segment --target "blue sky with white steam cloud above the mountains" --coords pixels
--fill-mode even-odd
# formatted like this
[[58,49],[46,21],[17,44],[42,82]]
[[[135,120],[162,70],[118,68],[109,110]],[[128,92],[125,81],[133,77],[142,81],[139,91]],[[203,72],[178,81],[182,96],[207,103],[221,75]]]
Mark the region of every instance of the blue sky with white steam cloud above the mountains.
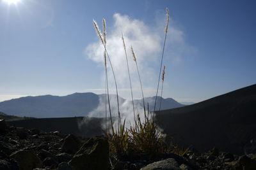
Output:
[[[256,83],[256,1],[0,0],[0,101],[74,92],[105,93],[103,47],[93,27],[107,25],[119,95],[156,96],[166,25],[163,97],[200,102]],[[115,84],[108,65],[109,90]],[[161,84],[160,84],[161,85]]]

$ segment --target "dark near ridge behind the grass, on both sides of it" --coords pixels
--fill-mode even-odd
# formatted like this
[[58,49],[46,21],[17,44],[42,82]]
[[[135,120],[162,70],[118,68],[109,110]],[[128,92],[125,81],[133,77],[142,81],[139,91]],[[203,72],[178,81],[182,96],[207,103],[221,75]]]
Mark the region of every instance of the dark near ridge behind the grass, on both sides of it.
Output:
[[[103,96],[104,97],[104,96]],[[156,123],[166,137],[184,148],[206,152],[213,147],[225,152],[256,152],[256,85],[228,92],[200,103],[156,112]],[[34,118],[8,125],[60,131],[86,138],[102,134],[105,118]]]

